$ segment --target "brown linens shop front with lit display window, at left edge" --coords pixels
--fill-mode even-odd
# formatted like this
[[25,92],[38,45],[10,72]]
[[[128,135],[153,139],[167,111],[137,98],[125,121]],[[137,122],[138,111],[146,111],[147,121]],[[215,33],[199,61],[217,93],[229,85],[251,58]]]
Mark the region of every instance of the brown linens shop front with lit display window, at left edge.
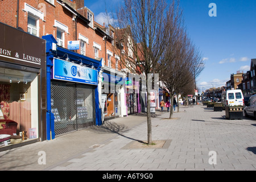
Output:
[[46,41],[0,23],[0,151],[46,139]]

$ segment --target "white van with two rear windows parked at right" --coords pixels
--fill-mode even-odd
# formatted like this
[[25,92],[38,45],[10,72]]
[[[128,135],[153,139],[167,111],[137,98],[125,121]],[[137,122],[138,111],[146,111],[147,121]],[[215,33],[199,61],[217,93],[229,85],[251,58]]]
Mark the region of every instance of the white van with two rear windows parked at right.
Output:
[[243,100],[243,93],[241,89],[226,90],[221,94],[221,103],[224,106],[236,106],[245,104]]

